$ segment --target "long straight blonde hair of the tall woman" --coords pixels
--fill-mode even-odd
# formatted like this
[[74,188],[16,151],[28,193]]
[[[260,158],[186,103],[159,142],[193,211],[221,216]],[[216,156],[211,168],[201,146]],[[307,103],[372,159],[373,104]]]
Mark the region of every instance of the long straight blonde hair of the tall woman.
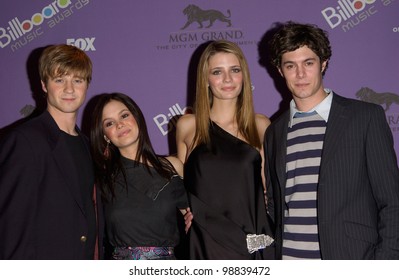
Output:
[[234,54],[240,62],[243,75],[242,91],[236,103],[236,120],[238,131],[248,143],[256,148],[261,147],[259,134],[255,123],[255,112],[252,99],[252,84],[248,63],[238,45],[226,40],[211,42],[200,57],[197,67],[196,101],[194,104],[196,132],[191,150],[198,144],[208,144],[210,112],[213,105],[213,94],[208,86],[209,59],[217,53]]

